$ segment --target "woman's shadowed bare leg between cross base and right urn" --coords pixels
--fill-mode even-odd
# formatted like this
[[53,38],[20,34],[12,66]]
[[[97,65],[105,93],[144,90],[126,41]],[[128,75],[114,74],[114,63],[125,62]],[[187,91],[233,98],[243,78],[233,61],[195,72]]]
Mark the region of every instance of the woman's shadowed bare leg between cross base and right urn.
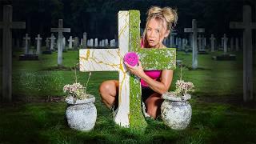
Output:
[[146,99],[146,113],[152,118],[157,118],[157,116],[161,114],[162,102],[161,94],[154,93],[150,95],[150,97]]

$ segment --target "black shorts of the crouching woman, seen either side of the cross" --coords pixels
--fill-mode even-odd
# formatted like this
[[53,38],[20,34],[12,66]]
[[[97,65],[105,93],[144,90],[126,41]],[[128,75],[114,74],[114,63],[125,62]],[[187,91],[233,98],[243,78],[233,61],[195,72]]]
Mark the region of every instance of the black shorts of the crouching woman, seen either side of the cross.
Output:
[[[118,91],[117,91],[118,93]],[[150,95],[154,94],[154,90],[152,90],[150,87],[145,87],[145,86],[142,86],[142,102],[146,102],[146,99],[150,97]],[[113,107],[114,110],[116,108],[118,108],[118,95],[116,96],[115,100],[114,100],[114,105]]]

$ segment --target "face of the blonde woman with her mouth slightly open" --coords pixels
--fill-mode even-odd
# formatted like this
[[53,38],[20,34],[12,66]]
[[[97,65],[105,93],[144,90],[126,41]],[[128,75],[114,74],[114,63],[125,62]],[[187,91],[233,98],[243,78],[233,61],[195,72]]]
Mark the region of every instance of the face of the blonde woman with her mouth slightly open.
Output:
[[[161,22],[155,18],[150,19],[146,27],[146,40],[150,47],[162,46],[162,41],[166,35],[166,27],[161,26]],[[168,35],[168,34],[167,34]]]

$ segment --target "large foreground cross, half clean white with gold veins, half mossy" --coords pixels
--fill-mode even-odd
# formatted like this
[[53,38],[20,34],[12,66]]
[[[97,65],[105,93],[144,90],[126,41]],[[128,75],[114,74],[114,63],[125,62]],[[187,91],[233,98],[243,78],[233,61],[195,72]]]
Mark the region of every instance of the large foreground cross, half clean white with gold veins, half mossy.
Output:
[[[128,23],[129,22],[129,23]],[[138,10],[119,11],[118,49],[80,50],[81,71],[118,71],[118,111],[114,122],[134,130],[146,128],[141,109],[140,79],[129,74],[123,64],[128,51],[137,52],[144,70],[171,70],[176,66],[175,49],[140,48],[140,14]]]

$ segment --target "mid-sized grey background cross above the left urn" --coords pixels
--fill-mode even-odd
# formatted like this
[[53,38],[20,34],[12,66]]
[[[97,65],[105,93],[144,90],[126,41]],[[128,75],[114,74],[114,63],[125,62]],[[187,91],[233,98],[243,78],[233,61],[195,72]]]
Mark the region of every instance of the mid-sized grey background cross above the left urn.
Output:
[[58,28],[51,28],[50,32],[58,33],[58,66],[62,66],[63,32],[70,33],[70,28],[63,28],[63,20],[58,19]]

